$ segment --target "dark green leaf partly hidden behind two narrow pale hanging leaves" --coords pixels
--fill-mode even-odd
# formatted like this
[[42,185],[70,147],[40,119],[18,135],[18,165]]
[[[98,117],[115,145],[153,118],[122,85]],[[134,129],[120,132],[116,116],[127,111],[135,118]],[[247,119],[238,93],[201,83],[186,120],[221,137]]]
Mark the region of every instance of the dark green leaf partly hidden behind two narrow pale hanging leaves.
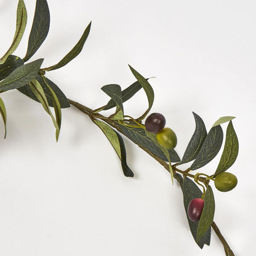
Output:
[[[61,108],[69,108],[70,103],[68,102],[68,99],[66,98],[65,94],[63,94],[62,90],[60,90],[60,88],[56,84],[54,84],[54,82],[50,81],[50,79],[48,79],[46,77],[45,77],[45,79],[46,79],[47,85],[49,85],[50,88],[52,88],[52,90],[54,90],[54,92],[58,98],[58,101],[60,102]],[[48,102],[49,106],[54,106],[54,103],[52,102],[52,95],[50,93],[50,90],[39,74],[36,75],[36,80],[38,80],[38,82],[41,84],[42,89],[44,90],[44,93],[46,94],[46,98],[47,98],[47,102]],[[20,92],[22,92],[22,94],[25,94],[26,96],[39,102],[38,98],[33,94],[32,90],[30,89],[30,86],[28,84],[26,84],[23,87],[18,88],[18,90]]]

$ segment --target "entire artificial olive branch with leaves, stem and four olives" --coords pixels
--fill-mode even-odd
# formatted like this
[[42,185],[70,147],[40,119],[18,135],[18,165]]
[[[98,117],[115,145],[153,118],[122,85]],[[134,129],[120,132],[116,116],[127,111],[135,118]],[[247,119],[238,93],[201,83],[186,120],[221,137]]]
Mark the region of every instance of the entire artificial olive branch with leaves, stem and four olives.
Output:
[[[62,124],[62,109],[73,106],[86,114],[88,118],[106,135],[121,161],[121,169],[126,177],[134,177],[126,161],[126,146],[123,137],[129,138],[146,153],[158,161],[170,173],[172,183],[178,182],[183,193],[185,214],[194,241],[202,249],[210,244],[211,229],[215,231],[223,244],[225,255],[234,255],[225,238],[214,222],[215,200],[214,186],[220,191],[232,190],[238,180],[234,174],[226,172],[238,156],[238,137],[233,127],[233,116],[224,116],[207,128],[202,118],[193,113],[195,121],[194,133],[188,142],[185,152],[178,156],[175,151],[178,138],[169,127],[164,127],[166,120],[160,113],[150,113],[154,102],[154,90],[150,79],[129,66],[135,81],[122,89],[118,84],[102,87],[110,97],[109,102],[92,110],[81,103],[68,99],[62,90],[47,78],[47,72],[57,70],[68,64],[84,47],[89,36],[91,23],[73,49],[55,65],[44,67],[44,59],[30,61],[34,53],[46,39],[50,25],[49,7],[46,0],[37,0],[33,25],[28,40],[28,48],[24,57],[13,55],[20,43],[26,28],[26,7],[23,0],[18,1],[17,21],[14,39],[9,49],[0,59],[0,93],[17,89],[27,97],[41,103],[49,114],[56,130],[56,140]],[[58,83],[58,81],[56,81]],[[142,110],[138,117],[124,114],[123,103],[132,98],[139,90],[144,90],[148,99],[148,108]],[[113,110],[105,116],[105,110]],[[4,122],[6,137],[7,111],[0,97],[0,113]],[[228,122],[225,133],[222,124]],[[225,141],[224,141],[225,139]],[[224,141],[224,142],[223,142]],[[212,174],[204,174],[199,169],[206,166],[220,153],[224,143],[220,161]],[[190,167],[183,170],[182,165],[190,162]],[[196,174],[191,174],[196,170]]]

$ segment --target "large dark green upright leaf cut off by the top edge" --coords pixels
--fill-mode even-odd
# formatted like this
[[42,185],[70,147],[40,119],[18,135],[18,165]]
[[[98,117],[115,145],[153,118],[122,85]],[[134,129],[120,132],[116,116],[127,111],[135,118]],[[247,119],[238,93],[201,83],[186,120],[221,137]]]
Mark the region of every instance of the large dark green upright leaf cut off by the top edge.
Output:
[[39,49],[49,32],[50,13],[46,0],[36,1],[36,10],[34,12],[33,25],[28,39],[28,50],[23,58],[24,62],[28,61]]

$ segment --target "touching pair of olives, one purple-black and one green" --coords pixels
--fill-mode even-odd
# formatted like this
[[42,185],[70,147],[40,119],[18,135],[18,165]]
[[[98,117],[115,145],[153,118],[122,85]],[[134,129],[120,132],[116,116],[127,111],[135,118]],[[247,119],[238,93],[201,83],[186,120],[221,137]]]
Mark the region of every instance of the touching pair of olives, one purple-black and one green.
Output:
[[172,129],[164,126],[166,126],[166,118],[160,113],[152,113],[146,118],[146,130],[156,134],[156,139],[161,146],[172,150],[177,145],[177,136]]

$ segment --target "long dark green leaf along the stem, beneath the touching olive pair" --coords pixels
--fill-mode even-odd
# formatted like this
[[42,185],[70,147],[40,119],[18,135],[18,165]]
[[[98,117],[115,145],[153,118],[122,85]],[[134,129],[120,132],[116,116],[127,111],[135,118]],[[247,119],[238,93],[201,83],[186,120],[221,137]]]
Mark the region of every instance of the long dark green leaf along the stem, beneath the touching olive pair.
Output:
[[[142,128],[134,128],[128,127],[116,122],[116,126],[122,131],[127,138],[130,138],[132,142],[136,143],[138,146],[143,146],[147,150],[149,150],[152,154],[158,156],[159,158],[163,159],[164,161],[168,161],[162,150],[159,148],[156,143],[154,143],[150,137],[148,137],[145,133],[145,130]],[[170,155],[170,161],[172,162],[179,162],[180,158],[175,150],[168,150]]]

